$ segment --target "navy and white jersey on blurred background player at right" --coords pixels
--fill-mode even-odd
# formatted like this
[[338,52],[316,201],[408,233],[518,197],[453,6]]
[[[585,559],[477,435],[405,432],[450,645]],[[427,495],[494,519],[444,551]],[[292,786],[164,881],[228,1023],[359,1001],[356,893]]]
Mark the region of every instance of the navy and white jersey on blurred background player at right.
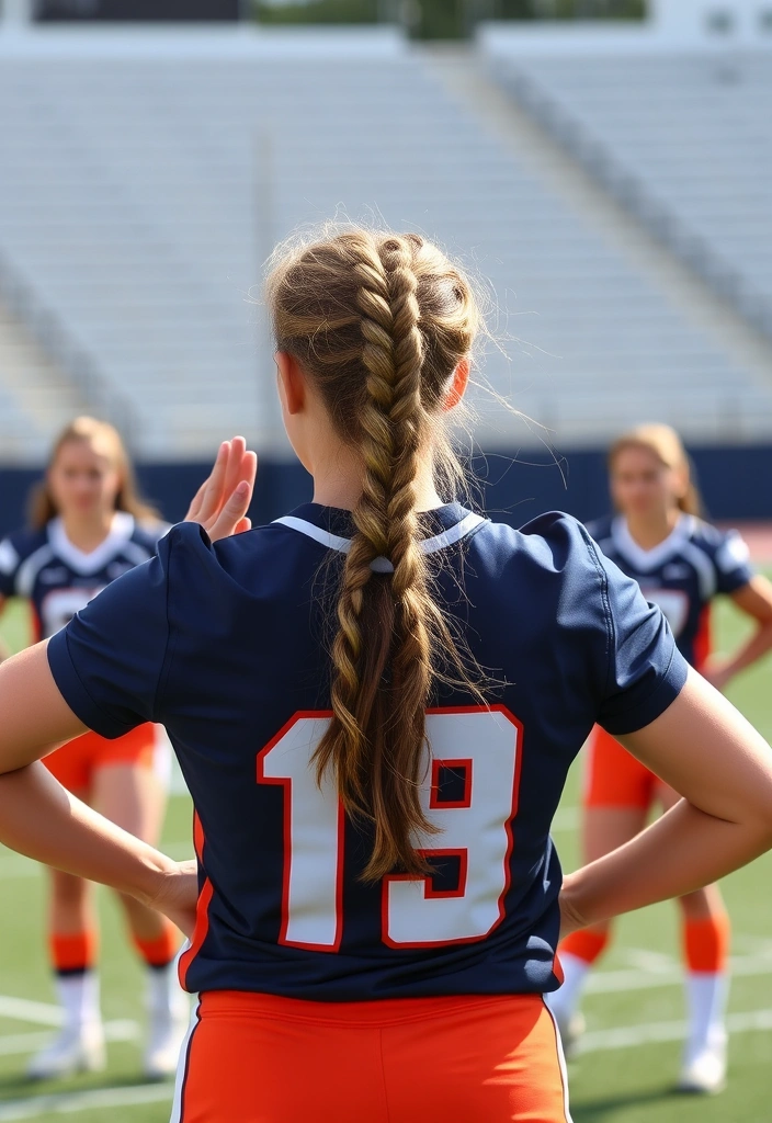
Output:
[[589,522],[598,546],[623,573],[637,581],[644,596],[664,612],[681,654],[701,667],[710,652],[710,602],[734,593],[753,577],[748,549],[736,530],[723,531],[683,514],[672,532],[651,550],[632,538],[624,515]]

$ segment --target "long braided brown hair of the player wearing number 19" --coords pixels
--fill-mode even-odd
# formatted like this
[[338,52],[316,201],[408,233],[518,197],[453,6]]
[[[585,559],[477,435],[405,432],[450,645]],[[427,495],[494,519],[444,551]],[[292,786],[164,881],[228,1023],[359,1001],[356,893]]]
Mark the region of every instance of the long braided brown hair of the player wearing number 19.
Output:
[[[462,273],[415,234],[349,229],[279,250],[267,294],[278,350],[314,381],[362,467],[319,774],[331,767],[347,811],[375,825],[367,878],[422,870],[411,837],[432,829],[419,802],[425,709],[441,655],[456,648],[417,545],[415,481],[426,457],[445,476],[460,472],[443,405],[479,313]],[[393,572],[373,568],[382,557]]]

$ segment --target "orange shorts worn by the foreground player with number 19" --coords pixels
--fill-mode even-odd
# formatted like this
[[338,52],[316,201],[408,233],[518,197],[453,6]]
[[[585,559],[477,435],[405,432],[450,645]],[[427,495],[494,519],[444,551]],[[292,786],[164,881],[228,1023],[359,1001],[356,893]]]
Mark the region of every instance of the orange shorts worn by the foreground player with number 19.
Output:
[[541,995],[307,1002],[210,990],[172,1123],[570,1123]]

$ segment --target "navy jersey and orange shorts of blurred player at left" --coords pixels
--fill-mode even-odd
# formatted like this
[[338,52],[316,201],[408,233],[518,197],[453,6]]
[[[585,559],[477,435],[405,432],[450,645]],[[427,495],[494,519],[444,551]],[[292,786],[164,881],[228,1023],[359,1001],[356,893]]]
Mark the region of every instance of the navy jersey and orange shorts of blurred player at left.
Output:
[[[19,530],[0,542],[0,596],[20,596],[31,609],[36,641],[48,639],[98,593],[156,550],[157,531],[116,512],[110,533],[89,554],[67,538],[62,520],[40,530]],[[105,764],[154,767],[160,756],[151,724],[110,741],[84,733],[44,758],[50,773],[71,792],[88,792],[94,768]]]

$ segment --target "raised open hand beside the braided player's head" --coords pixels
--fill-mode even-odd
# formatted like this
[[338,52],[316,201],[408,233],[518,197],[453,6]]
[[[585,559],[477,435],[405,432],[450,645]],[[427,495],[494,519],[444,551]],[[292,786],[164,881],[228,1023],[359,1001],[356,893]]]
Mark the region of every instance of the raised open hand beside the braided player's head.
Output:
[[199,522],[212,541],[240,535],[251,528],[247,510],[251,502],[257,455],[243,437],[223,440],[214,466],[195,493],[185,522]]

